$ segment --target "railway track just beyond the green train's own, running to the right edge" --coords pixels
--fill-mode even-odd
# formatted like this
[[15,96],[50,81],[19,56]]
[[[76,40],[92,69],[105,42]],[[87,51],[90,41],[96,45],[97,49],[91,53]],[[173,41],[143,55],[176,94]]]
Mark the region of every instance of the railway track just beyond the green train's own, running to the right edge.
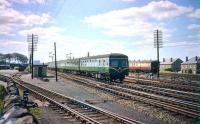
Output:
[[157,80],[149,80],[149,79],[137,79],[137,78],[126,78],[124,79],[125,83],[135,83],[135,84],[142,84],[142,85],[151,85],[157,86],[162,88],[170,88],[174,90],[180,90],[185,92],[194,92],[199,93],[200,87],[199,86],[190,86],[190,85],[181,85],[175,83],[164,83]]

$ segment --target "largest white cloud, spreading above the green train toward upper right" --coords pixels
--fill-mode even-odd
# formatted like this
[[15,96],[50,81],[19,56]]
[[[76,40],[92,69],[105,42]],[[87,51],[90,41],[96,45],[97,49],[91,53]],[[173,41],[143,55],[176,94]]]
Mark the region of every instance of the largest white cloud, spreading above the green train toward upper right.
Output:
[[157,27],[157,23],[152,23],[152,20],[171,19],[192,10],[190,7],[178,6],[170,1],[153,1],[143,7],[131,7],[85,17],[84,22],[104,29],[109,35],[144,36]]

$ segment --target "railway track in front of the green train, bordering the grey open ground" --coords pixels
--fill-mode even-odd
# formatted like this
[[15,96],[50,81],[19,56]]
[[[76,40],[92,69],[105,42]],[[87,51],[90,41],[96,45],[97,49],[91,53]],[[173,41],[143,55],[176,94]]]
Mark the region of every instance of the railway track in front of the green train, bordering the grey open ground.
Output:
[[102,83],[99,81],[94,81],[91,79],[78,77],[75,75],[66,75],[63,73],[59,73],[59,76],[70,79],[70,80],[74,80],[81,84],[95,87],[97,89],[101,89],[103,91],[118,95],[125,99],[137,100],[139,102],[143,102],[146,104],[164,108],[166,110],[180,113],[182,115],[186,115],[186,116],[189,116],[192,118],[199,117],[200,106],[198,103],[193,103],[193,102],[183,101],[183,100],[174,99],[174,98],[170,98],[170,97],[140,92],[140,91],[136,91],[133,89],[124,88],[121,86],[109,85],[109,84],[105,84],[105,83]]

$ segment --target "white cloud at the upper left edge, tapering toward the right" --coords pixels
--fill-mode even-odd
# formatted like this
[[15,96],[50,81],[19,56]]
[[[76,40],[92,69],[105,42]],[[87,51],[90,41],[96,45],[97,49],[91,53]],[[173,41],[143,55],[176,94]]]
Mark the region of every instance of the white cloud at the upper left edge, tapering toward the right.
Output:
[[8,2],[4,1],[0,4],[1,23],[0,34],[9,35],[11,32],[16,32],[17,28],[37,26],[47,24],[51,20],[51,16],[42,13],[23,13],[13,9]]

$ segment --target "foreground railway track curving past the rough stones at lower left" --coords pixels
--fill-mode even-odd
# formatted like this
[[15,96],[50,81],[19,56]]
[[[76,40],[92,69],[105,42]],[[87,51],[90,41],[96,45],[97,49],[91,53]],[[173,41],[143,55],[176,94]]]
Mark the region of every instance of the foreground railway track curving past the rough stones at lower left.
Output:
[[73,116],[79,123],[89,124],[142,124],[133,119],[126,118],[124,116],[111,113],[109,111],[100,109],[98,107],[83,103],[70,97],[66,97],[62,94],[49,91],[47,89],[37,87],[35,85],[26,83],[20,80],[19,76],[14,76],[12,79],[21,88],[28,89],[36,98],[48,101],[53,108],[59,111],[61,114],[67,114]]

